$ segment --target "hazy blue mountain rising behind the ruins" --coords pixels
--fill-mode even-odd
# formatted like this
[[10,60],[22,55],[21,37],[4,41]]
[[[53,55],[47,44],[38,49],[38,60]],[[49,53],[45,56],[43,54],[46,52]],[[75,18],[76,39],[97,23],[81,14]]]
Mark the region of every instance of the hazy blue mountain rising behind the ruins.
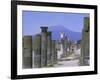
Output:
[[74,32],[71,31],[69,29],[67,29],[64,26],[51,26],[48,28],[48,31],[52,31],[52,38],[55,40],[59,40],[60,39],[60,33],[64,32],[66,33],[66,35],[69,37],[69,39],[74,40],[74,41],[78,41],[81,40],[82,37],[82,33],[81,32]]

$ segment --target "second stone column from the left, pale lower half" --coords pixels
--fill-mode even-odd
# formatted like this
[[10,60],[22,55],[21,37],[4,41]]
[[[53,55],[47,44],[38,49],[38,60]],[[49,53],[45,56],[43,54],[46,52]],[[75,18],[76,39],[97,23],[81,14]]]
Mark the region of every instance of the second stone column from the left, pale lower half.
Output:
[[41,67],[41,35],[37,34],[33,37],[32,50],[32,67]]

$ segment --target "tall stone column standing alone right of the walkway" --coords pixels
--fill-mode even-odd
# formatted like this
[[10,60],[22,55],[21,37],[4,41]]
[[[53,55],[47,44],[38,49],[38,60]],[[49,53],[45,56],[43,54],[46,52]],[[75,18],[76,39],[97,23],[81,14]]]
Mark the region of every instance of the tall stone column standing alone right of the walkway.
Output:
[[81,59],[80,65],[89,65],[90,51],[89,51],[89,17],[84,18],[84,28],[82,31],[82,43],[81,43]]

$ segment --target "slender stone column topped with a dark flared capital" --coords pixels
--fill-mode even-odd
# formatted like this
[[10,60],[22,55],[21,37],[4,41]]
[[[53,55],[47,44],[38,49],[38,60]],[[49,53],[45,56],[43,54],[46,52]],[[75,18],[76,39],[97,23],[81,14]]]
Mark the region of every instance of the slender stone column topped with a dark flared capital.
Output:
[[41,67],[47,66],[47,29],[41,27]]

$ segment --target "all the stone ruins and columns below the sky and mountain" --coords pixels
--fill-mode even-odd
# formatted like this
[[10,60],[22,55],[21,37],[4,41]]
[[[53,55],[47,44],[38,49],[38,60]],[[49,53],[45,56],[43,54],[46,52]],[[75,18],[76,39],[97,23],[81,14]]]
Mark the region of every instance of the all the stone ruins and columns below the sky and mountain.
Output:
[[[51,67],[58,59],[77,52],[81,47],[80,65],[89,65],[89,17],[84,18],[82,40],[77,47],[75,41],[69,40],[65,33],[61,33],[60,40],[52,39],[52,32],[48,27],[41,27],[41,33],[35,36],[23,37],[23,68]],[[80,55],[80,49],[78,50]]]

